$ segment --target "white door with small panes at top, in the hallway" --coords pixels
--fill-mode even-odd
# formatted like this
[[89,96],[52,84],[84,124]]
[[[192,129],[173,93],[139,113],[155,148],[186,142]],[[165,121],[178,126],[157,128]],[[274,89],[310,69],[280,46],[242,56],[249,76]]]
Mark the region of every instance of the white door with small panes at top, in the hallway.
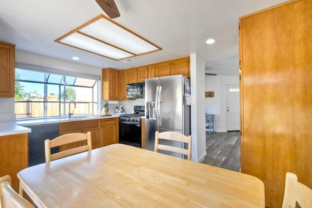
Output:
[[240,130],[239,116],[239,85],[226,86],[226,101],[227,101],[227,130]]

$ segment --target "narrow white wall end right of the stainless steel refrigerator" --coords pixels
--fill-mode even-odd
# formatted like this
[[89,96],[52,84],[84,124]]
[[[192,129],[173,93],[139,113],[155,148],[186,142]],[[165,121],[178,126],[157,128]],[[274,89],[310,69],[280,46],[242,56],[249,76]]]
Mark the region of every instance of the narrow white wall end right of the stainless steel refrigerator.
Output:
[[205,132],[205,60],[191,54],[191,134],[192,160],[201,162],[206,152]]

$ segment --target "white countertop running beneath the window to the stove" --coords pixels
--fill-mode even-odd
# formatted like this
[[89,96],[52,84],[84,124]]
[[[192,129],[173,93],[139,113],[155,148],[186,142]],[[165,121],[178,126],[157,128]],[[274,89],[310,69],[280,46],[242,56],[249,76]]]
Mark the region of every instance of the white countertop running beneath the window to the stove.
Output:
[[110,116],[72,116],[72,118],[33,118],[33,119],[24,119],[11,122],[0,122],[0,136],[19,134],[19,133],[28,133],[31,132],[30,128],[24,126],[33,126],[41,124],[52,124],[52,123],[62,123],[62,122],[71,122],[71,121],[82,121],[82,120],[91,120],[91,119],[106,119],[106,118],[116,118],[119,117],[118,114],[112,114]]

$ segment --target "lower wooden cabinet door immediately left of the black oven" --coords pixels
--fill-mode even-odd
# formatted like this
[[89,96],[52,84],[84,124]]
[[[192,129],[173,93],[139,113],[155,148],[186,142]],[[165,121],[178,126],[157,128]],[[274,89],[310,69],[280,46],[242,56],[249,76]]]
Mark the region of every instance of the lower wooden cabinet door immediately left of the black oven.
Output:
[[119,143],[118,118],[100,120],[100,147]]

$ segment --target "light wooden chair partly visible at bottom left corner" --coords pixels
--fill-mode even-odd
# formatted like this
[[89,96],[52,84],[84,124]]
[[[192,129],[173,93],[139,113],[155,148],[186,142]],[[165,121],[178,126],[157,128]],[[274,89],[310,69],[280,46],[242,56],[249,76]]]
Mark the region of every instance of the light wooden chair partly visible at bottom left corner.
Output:
[[0,178],[0,202],[1,208],[34,208],[32,204],[12,189],[9,175]]

